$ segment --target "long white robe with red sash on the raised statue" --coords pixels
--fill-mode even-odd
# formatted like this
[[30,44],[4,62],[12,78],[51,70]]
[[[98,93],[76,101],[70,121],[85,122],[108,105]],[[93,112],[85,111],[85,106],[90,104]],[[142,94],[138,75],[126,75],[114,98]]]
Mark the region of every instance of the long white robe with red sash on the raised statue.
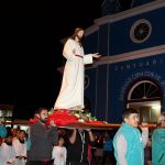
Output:
[[91,54],[85,55],[82,46],[69,38],[63,50],[67,59],[63,81],[54,109],[84,108],[84,76],[85,64],[92,63]]

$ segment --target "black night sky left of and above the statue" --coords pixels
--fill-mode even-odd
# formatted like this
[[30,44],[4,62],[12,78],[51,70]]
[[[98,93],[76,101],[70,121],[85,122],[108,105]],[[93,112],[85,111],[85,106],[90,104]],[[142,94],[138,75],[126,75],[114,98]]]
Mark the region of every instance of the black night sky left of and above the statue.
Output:
[[77,26],[101,16],[103,0],[1,6],[0,103],[14,106],[14,118],[29,119],[38,107],[51,109],[64,64],[59,41]]

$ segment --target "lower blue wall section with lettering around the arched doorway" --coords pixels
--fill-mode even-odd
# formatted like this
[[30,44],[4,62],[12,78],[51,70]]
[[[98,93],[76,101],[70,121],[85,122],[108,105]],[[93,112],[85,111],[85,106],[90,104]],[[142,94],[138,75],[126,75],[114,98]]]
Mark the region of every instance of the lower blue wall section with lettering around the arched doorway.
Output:
[[163,107],[165,107],[165,54],[112,64],[109,67],[109,120],[121,122],[121,116],[125,107],[125,91],[129,86],[140,78],[155,80],[163,94]]

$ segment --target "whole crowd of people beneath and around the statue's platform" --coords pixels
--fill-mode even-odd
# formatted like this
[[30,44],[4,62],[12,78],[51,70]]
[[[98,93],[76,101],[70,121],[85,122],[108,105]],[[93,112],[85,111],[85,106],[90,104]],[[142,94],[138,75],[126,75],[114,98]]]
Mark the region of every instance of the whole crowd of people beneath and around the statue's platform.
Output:
[[47,109],[40,108],[28,130],[0,123],[0,165],[163,165],[165,112],[150,135],[134,109],[123,112],[117,130],[61,129],[46,125]]

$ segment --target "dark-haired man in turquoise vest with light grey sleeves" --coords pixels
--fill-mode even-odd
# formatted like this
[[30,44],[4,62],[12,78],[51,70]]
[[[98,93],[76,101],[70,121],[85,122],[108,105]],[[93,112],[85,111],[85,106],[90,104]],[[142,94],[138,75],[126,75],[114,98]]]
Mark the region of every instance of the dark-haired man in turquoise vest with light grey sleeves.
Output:
[[117,165],[144,165],[144,147],[148,140],[148,129],[139,129],[139,113],[135,109],[127,109],[123,122],[113,138]]

